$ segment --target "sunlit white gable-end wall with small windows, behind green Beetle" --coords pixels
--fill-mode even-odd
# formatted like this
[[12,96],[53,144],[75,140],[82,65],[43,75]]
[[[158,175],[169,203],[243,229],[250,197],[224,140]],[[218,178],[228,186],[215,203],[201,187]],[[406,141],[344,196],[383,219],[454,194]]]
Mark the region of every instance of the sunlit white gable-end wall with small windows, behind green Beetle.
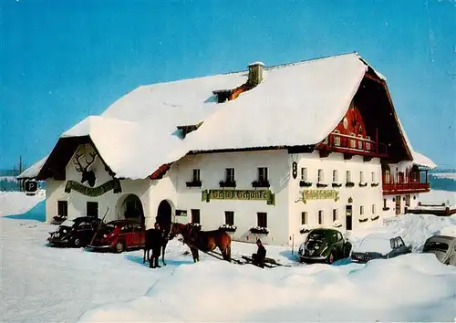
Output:
[[[378,158],[373,158],[370,162],[363,162],[362,156],[353,156],[350,160],[344,160],[342,153],[331,153],[327,158],[320,159],[318,151],[314,151],[313,153],[290,154],[289,164],[292,162],[297,162],[298,172],[296,179],[291,178],[289,182],[290,235],[299,236],[300,229],[304,227],[322,226],[337,226],[339,230],[345,232],[350,207],[352,230],[381,221],[383,217],[381,167]],[[349,172],[348,179],[347,172]],[[320,177],[323,173],[320,183],[326,184],[326,187],[318,188],[316,186],[319,173]],[[312,185],[300,187],[300,181],[310,182]],[[347,182],[353,182],[353,187],[347,186]],[[333,183],[340,186],[333,187]],[[302,192],[305,190],[335,190],[338,199],[337,201],[310,200],[303,203]],[[303,213],[306,215],[303,216]]]

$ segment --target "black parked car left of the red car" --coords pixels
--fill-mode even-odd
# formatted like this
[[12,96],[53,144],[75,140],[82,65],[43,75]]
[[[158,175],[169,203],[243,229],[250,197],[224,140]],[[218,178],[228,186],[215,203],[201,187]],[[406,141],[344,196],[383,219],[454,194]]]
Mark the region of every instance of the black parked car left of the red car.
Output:
[[86,246],[92,240],[101,220],[92,216],[81,216],[65,220],[58,226],[57,231],[50,232],[47,241],[50,245]]

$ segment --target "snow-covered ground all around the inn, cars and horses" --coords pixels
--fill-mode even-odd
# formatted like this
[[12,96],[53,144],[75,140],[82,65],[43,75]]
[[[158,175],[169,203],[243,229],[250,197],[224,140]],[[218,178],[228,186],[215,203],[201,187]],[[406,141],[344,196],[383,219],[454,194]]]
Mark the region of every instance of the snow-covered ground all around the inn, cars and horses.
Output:
[[[113,255],[48,247],[47,232],[55,226],[33,220],[44,218],[44,203],[27,214],[6,216],[30,209],[32,200],[24,194],[4,194],[0,199],[2,322],[373,322],[456,317],[456,267],[443,266],[433,255],[415,253],[368,265],[343,260],[335,266],[262,270],[206,255],[193,264],[190,255],[182,255],[187,248],[173,241],[168,266],[150,269],[142,264],[141,251]],[[378,231],[401,234],[418,252],[432,234],[456,234],[456,216],[408,214],[349,238],[356,245],[364,235]],[[268,256],[294,262],[291,247],[266,248]],[[233,253],[249,255],[254,249],[233,244]]]

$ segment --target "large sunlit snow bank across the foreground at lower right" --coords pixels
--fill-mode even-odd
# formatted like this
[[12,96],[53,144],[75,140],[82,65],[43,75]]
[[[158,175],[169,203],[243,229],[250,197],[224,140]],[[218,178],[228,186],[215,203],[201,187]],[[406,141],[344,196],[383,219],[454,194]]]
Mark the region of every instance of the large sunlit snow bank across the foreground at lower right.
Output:
[[456,267],[434,255],[275,270],[208,260],[79,321],[441,321],[454,317],[455,295]]

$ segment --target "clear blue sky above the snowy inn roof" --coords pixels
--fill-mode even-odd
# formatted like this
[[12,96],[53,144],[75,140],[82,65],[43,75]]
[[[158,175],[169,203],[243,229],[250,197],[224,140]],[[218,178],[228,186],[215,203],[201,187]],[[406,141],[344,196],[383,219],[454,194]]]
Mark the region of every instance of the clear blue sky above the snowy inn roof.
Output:
[[0,169],[140,85],[355,50],[415,150],[456,167],[454,0],[0,0]]

